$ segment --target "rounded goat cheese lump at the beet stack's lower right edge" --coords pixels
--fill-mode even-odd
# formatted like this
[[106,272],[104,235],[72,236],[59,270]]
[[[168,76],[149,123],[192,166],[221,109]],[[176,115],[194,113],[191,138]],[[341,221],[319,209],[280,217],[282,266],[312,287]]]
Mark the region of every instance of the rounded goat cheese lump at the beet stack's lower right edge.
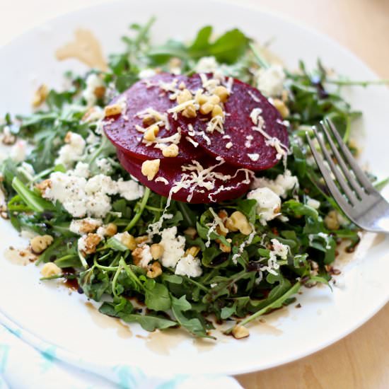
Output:
[[281,199],[268,187],[259,187],[248,192],[248,199],[257,200],[257,214],[260,215],[260,222],[265,226],[266,222],[278,216],[281,209]]

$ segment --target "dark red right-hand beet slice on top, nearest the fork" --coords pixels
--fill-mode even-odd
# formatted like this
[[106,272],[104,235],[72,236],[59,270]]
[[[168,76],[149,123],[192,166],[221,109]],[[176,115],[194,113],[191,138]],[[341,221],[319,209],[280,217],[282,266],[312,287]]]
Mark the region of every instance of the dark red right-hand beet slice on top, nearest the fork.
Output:
[[[201,88],[202,81],[198,74],[194,74],[187,84],[195,91]],[[277,158],[277,150],[269,144],[263,132],[253,130],[255,124],[251,116],[255,108],[260,109],[257,110],[260,112],[258,120],[263,121],[263,131],[269,137],[279,139],[285,146],[280,146],[281,150],[286,149],[289,146],[288,132],[277,109],[256,88],[236,79],[233,80],[232,93],[224,103],[226,117],[223,132],[217,129],[207,132],[210,115],[198,114],[188,119],[178,114],[177,120],[172,120],[172,123],[212,156],[221,156],[235,166],[264,170],[274,166],[280,155]],[[194,131],[191,131],[192,128]]]

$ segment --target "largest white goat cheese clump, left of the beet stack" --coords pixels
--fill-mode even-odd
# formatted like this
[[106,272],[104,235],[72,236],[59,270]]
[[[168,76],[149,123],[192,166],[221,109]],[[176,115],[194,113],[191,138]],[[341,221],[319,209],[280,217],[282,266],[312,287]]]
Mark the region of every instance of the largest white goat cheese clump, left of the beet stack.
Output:
[[42,197],[52,202],[59,201],[74,217],[103,217],[112,208],[108,195],[120,194],[126,199],[137,199],[143,195],[143,187],[134,181],[114,181],[106,175],[95,175],[86,180],[70,170],[68,173],[54,172],[50,185]]

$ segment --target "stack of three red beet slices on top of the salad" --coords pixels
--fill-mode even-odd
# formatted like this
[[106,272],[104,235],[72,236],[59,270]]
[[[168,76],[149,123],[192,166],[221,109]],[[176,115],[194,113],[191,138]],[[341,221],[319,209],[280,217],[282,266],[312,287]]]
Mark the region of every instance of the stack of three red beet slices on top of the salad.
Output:
[[[271,168],[279,161],[274,142],[284,149],[289,145],[277,109],[260,91],[236,79],[225,81],[231,91],[223,103],[222,131],[209,132],[210,114],[197,111],[196,117],[185,117],[182,111],[172,112],[178,105],[178,86],[185,86],[194,95],[204,88],[204,77],[212,78],[161,73],[141,80],[112,100],[110,105],[121,104],[122,112],[105,117],[103,122],[122,166],[154,192],[182,202],[221,202],[240,197],[248,191],[255,170]],[[166,139],[175,139],[177,156],[163,156],[158,147],[161,143],[145,141],[150,112],[161,115],[154,120],[158,120],[158,140],[169,144]],[[255,120],[260,123],[255,125]],[[141,172],[142,164],[156,159],[158,172],[148,180]]]

